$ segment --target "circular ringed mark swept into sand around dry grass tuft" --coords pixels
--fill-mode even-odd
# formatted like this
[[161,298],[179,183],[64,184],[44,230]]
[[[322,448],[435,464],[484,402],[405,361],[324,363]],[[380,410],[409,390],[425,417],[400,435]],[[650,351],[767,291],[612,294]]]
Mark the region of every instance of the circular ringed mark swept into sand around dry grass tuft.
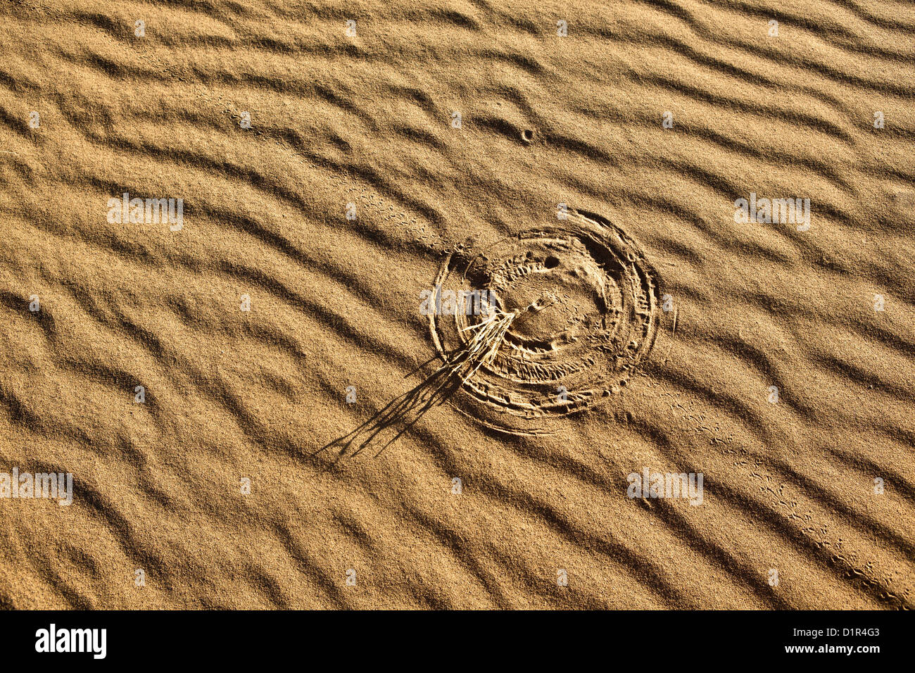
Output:
[[[491,428],[544,434],[561,418],[619,392],[651,352],[656,274],[613,223],[570,211],[565,221],[531,229],[477,255],[450,255],[438,288],[479,291],[517,317],[491,364],[464,382],[458,408]],[[475,296],[458,315],[430,315],[432,338],[447,360],[468,345]],[[485,311],[485,308],[484,308]]]

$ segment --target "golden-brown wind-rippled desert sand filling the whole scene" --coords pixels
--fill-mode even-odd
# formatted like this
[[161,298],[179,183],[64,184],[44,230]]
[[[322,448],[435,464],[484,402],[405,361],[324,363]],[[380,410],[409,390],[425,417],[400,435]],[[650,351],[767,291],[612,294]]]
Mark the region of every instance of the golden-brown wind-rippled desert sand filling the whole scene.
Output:
[[912,607],[913,103],[895,0],[2,0],[0,606]]

